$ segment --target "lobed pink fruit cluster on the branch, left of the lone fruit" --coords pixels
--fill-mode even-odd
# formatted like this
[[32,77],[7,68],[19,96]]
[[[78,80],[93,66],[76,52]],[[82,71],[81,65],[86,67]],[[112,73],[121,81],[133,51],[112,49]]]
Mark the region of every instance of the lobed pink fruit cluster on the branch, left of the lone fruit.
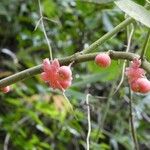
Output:
[[42,79],[53,89],[64,91],[70,87],[72,82],[72,72],[70,66],[60,66],[59,61],[54,59],[49,61],[48,58],[43,60]]

